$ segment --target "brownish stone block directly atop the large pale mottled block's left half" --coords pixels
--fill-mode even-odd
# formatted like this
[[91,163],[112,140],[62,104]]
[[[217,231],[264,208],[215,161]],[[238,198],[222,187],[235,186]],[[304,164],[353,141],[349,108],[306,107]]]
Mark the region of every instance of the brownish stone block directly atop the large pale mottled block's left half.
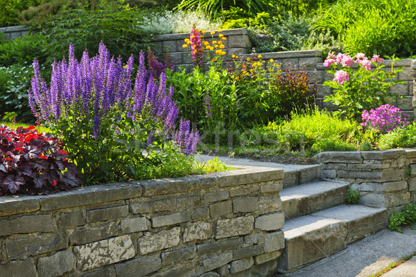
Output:
[[116,222],[109,222],[101,227],[85,227],[72,232],[71,244],[86,244],[105,238],[114,237],[119,231]]

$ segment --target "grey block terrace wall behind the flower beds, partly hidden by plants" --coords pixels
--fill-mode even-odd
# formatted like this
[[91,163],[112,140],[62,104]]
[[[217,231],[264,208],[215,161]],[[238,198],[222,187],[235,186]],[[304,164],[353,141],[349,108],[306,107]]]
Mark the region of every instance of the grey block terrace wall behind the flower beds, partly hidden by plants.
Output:
[[[239,55],[245,60],[247,57],[250,57],[252,44],[250,42],[250,37],[248,37],[247,30],[240,29],[230,29],[223,30],[222,34],[227,40],[224,41],[226,54],[223,55],[223,60],[225,64],[231,62],[232,55]],[[189,33],[184,34],[173,34],[173,35],[157,35],[154,39],[155,52],[159,57],[164,57],[166,49],[171,53],[173,63],[178,66],[185,66],[188,68],[192,64],[191,54],[189,50],[182,47],[184,44],[184,39],[189,38]],[[218,40],[218,33],[214,35],[214,38],[211,38],[209,33],[205,33],[205,40],[210,44],[213,40]],[[205,53],[205,60],[209,60],[209,57],[212,57],[214,53]],[[329,102],[323,102],[325,96],[328,96],[332,93],[330,87],[323,87],[322,84],[326,80],[332,80],[333,75],[327,73],[327,67],[323,66],[324,58],[322,56],[322,51],[286,51],[286,52],[273,52],[273,53],[261,53],[262,60],[273,59],[279,64],[281,64],[282,69],[287,69],[289,66],[293,68],[302,66],[302,69],[309,73],[311,77],[311,82],[317,84],[318,93],[316,94],[316,102],[319,107],[325,107],[329,110],[337,109],[336,106],[331,105]],[[391,69],[391,60],[385,60],[383,63],[386,67],[386,70]],[[205,68],[207,68],[205,64]],[[413,93],[416,93],[416,87],[414,88],[413,82],[416,78],[416,60],[401,60],[397,61],[394,64],[395,68],[399,66],[404,66],[404,70],[399,72],[398,79],[404,81],[405,84],[396,84],[392,87],[392,91],[404,98],[397,98],[390,102],[390,105],[395,105],[399,107],[402,111],[405,111],[408,114],[409,119],[414,119],[414,105],[413,105]],[[415,97],[415,106],[416,106],[416,97]]]

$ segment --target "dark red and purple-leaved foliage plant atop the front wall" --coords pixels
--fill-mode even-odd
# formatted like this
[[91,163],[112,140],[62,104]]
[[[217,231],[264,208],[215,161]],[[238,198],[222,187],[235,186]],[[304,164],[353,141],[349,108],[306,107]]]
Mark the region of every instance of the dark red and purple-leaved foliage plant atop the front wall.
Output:
[[81,178],[51,134],[0,125],[0,195],[47,195],[79,186]]

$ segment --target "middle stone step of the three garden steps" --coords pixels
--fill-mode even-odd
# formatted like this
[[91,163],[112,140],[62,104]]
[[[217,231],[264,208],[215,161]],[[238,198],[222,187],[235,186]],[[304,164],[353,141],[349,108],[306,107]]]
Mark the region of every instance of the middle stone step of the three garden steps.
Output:
[[285,220],[343,204],[348,188],[348,183],[339,181],[315,181],[284,188],[280,197]]

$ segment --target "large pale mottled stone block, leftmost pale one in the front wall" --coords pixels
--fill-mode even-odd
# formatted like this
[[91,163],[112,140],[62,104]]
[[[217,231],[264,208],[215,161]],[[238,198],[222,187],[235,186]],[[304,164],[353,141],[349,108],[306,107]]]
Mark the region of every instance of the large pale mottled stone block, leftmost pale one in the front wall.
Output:
[[130,235],[76,246],[73,247],[73,253],[76,256],[76,266],[80,271],[111,265],[131,259],[136,255]]

